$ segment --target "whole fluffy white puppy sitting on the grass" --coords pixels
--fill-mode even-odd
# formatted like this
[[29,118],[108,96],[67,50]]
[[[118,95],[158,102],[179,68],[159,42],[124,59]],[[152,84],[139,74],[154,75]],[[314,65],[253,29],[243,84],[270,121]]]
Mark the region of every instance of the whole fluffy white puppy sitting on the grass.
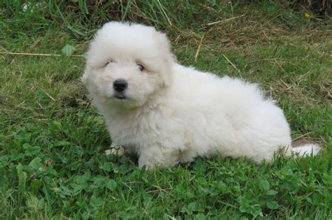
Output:
[[[215,155],[270,162],[280,147],[291,148],[283,111],[258,85],[177,64],[166,35],[153,27],[104,24],[86,54],[83,82],[112,146],[123,147],[106,152],[136,153],[139,167]],[[292,151],[316,154],[319,146]]]

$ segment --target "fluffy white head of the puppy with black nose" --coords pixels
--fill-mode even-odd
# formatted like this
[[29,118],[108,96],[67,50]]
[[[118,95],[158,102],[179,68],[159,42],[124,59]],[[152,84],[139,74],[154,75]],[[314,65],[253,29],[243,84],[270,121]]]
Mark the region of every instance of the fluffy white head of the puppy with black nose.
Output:
[[141,24],[109,22],[90,43],[82,79],[92,97],[133,108],[170,84],[173,63],[165,34]]

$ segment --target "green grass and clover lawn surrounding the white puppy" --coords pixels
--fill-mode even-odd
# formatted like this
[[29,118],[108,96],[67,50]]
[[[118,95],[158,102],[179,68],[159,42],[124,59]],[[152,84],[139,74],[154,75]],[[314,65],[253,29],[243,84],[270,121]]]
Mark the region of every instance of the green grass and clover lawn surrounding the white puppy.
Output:
[[271,165],[216,157],[139,170],[135,158],[103,154],[111,138],[79,81],[83,57],[0,54],[0,219],[331,219],[331,19],[279,1],[15,2],[0,8],[1,52],[83,54],[110,17],[152,24],[181,64],[259,82],[293,138],[324,150]]

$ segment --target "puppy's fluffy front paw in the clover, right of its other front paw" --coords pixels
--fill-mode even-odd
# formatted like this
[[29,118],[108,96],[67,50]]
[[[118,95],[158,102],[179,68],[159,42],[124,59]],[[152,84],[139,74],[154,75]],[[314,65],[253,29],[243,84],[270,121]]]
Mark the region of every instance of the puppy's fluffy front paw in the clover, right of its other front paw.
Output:
[[148,170],[155,167],[165,168],[179,163],[179,151],[165,151],[160,147],[146,147],[139,154],[138,166],[142,168],[146,165]]

